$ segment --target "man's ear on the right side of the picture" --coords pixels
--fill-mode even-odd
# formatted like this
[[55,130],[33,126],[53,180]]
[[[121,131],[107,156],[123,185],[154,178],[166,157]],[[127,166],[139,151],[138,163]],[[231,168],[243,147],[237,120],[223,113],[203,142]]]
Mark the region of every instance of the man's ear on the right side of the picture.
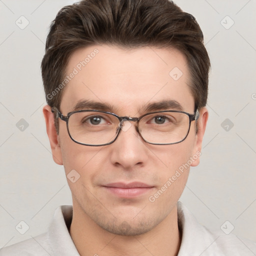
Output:
[[[206,107],[202,107],[199,110],[199,118],[197,119],[197,133],[195,134],[193,155],[196,155],[196,159],[191,163],[191,166],[197,166],[200,162],[202,138],[206,128],[208,120],[208,110]],[[193,157],[195,158],[195,157]]]

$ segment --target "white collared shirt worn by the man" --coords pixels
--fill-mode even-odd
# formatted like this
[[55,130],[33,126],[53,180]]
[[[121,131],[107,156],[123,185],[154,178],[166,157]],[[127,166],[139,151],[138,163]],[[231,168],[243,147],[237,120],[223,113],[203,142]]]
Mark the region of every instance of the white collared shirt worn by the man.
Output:
[[[209,231],[196,221],[181,202],[177,203],[177,209],[178,225],[182,230],[178,256],[256,255],[255,242],[232,233],[227,235],[221,230]],[[79,256],[68,232],[71,220],[72,206],[58,206],[46,233],[3,247],[0,249],[0,256]]]

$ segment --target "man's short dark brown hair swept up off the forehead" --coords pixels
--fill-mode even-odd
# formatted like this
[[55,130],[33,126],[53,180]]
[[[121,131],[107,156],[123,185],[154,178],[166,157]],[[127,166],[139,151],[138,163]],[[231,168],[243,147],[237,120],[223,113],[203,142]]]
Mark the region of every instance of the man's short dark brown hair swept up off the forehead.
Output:
[[[180,50],[187,59],[195,108],[206,105],[210,61],[202,31],[191,14],[169,0],[82,0],[63,7],[50,25],[41,62],[50,106],[59,108],[62,90],[58,86],[71,53],[80,47],[102,43]],[[56,121],[55,125],[58,131]]]

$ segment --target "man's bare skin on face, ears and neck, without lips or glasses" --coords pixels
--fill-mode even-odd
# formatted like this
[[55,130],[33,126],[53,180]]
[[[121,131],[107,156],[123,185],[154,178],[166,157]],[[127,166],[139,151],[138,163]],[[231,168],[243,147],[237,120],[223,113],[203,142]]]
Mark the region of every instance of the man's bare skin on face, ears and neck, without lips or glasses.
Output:
[[[92,45],[74,51],[67,74],[97,48],[99,53],[72,78],[63,90],[60,111],[66,115],[81,99],[105,102],[119,116],[140,116],[147,103],[174,99],[188,113],[194,99],[188,88],[189,71],[185,57],[176,49],[141,47],[132,50],[111,45]],[[169,76],[178,67],[178,80]],[[177,255],[181,236],[176,203],[187,181],[187,168],[154,202],[149,196],[160,189],[180,165],[201,149],[208,112],[200,109],[191,122],[186,139],[172,145],[146,143],[138,135],[135,122],[105,146],[85,146],[73,142],[66,123],[59,120],[56,133],[48,105],[43,113],[53,159],[63,164],[65,174],[75,169],[80,178],[67,182],[72,193],[73,218],[70,235],[80,255]],[[127,122],[125,123],[125,125]],[[127,124],[128,125],[128,124]],[[196,166],[199,157],[191,163]],[[121,198],[106,191],[103,184],[140,181],[150,191]]]

